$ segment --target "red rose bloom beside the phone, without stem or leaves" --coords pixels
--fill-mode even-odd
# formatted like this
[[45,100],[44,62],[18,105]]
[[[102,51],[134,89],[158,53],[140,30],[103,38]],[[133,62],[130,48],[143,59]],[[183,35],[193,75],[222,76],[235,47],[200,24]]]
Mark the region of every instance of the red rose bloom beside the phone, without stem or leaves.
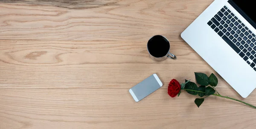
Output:
[[172,79],[168,86],[168,94],[171,97],[175,97],[179,94],[181,89],[180,83],[176,79]]

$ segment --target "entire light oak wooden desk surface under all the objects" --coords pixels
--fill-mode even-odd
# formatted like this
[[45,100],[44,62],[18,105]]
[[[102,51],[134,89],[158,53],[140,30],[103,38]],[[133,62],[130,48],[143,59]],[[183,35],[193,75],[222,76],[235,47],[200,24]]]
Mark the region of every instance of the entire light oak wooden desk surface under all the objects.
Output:
[[[1,0],[0,129],[253,129],[241,103],[167,94],[173,78],[216,74],[180,37],[212,1]],[[148,57],[156,34],[177,60]],[[153,73],[163,87],[136,103],[128,89]],[[216,75],[221,94],[256,105]]]

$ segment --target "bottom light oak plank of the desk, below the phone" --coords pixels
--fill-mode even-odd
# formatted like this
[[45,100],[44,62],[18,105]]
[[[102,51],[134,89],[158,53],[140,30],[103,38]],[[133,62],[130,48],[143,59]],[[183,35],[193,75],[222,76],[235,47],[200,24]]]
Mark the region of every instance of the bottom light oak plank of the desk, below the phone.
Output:
[[[128,89],[0,89],[1,129],[252,129],[256,110],[218,97],[159,89],[136,103]],[[226,94],[232,94],[227,91]],[[237,95],[231,95],[237,97]],[[247,102],[256,104],[253,92]]]

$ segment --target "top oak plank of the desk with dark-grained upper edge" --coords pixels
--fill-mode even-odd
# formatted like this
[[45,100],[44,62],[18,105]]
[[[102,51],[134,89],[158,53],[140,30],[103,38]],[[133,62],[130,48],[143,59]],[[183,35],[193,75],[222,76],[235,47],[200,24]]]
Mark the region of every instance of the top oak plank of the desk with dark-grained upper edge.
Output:
[[179,41],[180,33],[213,0],[109,0],[115,4],[91,9],[79,4],[79,9],[65,8],[69,3],[61,5],[60,0],[3,1],[0,39],[145,41],[163,34]]

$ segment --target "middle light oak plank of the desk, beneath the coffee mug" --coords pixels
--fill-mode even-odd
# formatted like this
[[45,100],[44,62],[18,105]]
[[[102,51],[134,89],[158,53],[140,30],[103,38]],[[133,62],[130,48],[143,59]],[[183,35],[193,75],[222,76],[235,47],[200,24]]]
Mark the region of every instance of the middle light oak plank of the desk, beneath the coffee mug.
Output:
[[[172,78],[195,81],[194,72],[214,72],[185,42],[171,42],[178,60],[163,62],[149,58],[146,43],[0,40],[0,88],[128,89],[154,73],[167,85]],[[222,79],[219,86],[229,87]]]

